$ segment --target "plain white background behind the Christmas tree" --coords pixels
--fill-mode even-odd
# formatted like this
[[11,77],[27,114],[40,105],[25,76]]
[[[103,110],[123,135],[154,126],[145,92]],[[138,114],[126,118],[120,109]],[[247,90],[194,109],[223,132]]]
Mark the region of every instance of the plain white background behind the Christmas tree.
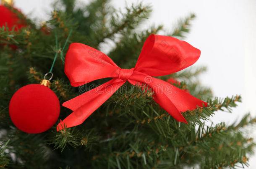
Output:
[[[88,2],[83,0],[85,3]],[[137,3],[129,0],[127,5]],[[15,0],[30,18],[47,20],[52,10],[50,0]],[[201,50],[201,57],[193,66],[206,65],[209,70],[202,75],[201,83],[214,91],[214,96],[226,97],[241,94],[233,113],[218,112],[212,121],[227,124],[243,114],[256,115],[256,1],[255,0],[144,0],[151,4],[153,13],[143,28],[152,24],[163,24],[171,31],[179,18],[196,14],[191,32],[185,38],[188,43]],[[112,5],[121,10],[124,0],[112,0]],[[254,134],[255,136],[255,134]],[[250,158],[250,169],[256,168],[256,156]]]

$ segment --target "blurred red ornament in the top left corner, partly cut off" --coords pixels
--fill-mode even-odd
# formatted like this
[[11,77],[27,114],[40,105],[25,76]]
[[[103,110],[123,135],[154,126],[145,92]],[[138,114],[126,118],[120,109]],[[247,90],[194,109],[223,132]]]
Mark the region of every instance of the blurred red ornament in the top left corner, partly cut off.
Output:
[[[12,7],[13,8],[13,7]],[[21,13],[20,10],[13,8],[13,10],[16,10],[17,13]],[[23,15],[21,13],[21,15]],[[19,30],[21,27],[26,26],[26,21],[25,20],[21,20],[20,18],[18,18],[18,15],[16,13],[13,13],[12,10],[8,9],[7,7],[5,7],[4,5],[0,5],[0,26],[5,26],[5,24],[7,24],[9,29],[12,29],[13,26],[15,26],[14,30]]]

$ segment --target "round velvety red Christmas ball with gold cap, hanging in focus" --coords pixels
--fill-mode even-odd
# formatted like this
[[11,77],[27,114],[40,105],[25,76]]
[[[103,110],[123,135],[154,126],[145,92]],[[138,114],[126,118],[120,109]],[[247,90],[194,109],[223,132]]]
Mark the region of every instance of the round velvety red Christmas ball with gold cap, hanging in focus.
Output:
[[36,134],[55,124],[60,115],[60,102],[49,87],[50,81],[44,79],[41,84],[26,85],[14,93],[9,114],[18,129]]

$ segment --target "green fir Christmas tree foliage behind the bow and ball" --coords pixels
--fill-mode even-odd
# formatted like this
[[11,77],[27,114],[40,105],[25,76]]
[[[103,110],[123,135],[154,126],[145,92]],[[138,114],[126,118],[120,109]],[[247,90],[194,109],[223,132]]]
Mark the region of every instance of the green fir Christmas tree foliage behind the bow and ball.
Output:
[[[55,7],[51,19],[41,26],[25,18],[28,26],[17,32],[0,28],[0,168],[222,169],[248,165],[255,142],[245,127],[255,124],[256,119],[247,114],[232,125],[205,124],[215,113],[232,112],[241,101],[240,96],[213,98],[212,91],[201,86],[197,78],[205,67],[192,66],[157,77],[178,79],[181,83],[173,85],[209,103],[208,107],[182,112],[188,124],[175,121],[160,108],[152,99],[152,91],[127,82],[126,88],[121,87],[79,126],[56,131],[57,121],[42,134],[18,130],[9,117],[10,98],[22,86],[39,83],[49,72],[56,52],[51,89],[60,103],[106,81],[70,86],[63,63],[67,39],[66,46],[78,42],[98,49],[111,40],[115,47],[107,55],[121,68],[132,68],[150,34],[161,30],[165,35],[184,38],[195,18],[188,15],[173,33],[166,33],[162,25],[136,29],[151,12],[150,6],[141,3],[125,8],[124,13],[115,10],[109,0],[93,0],[78,8],[75,0],[62,0]],[[61,107],[59,119],[70,113]]]

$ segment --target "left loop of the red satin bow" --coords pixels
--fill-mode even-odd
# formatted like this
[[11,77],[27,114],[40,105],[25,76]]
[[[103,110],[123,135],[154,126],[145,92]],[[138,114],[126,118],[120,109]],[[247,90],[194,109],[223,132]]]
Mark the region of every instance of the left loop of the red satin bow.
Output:
[[71,86],[115,77],[120,68],[104,53],[81,43],[71,43],[65,57],[65,73]]

